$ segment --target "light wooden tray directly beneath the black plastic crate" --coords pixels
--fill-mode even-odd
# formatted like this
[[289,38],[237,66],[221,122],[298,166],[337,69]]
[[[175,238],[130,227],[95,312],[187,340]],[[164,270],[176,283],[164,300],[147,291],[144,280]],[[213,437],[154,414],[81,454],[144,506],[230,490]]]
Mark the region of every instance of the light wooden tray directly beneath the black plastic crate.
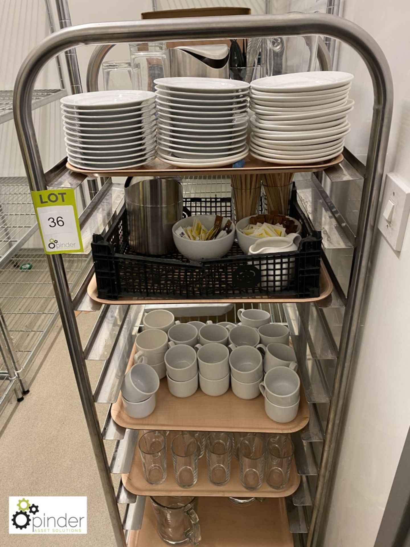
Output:
[[327,273],[325,265],[321,262],[320,266],[320,295],[315,298],[292,298],[291,296],[247,296],[246,294],[239,294],[232,298],[192,298],[185,300],[174,300],[169,298],[150,298],[149,296],[136,296],[135,298],[129,298],[128,296],[120,297],[118,300],[106,300],[98,298],[97,294],[97,280],[95,274],[92,276],[89,286],[87,287],[87,294],[91,300],[99,302],[100,304],[236,304],[236,302],[253,302],[255,304],[263,304],[267,302],[317,302],[324,300],[329,296],[333,290],[332,280]]

